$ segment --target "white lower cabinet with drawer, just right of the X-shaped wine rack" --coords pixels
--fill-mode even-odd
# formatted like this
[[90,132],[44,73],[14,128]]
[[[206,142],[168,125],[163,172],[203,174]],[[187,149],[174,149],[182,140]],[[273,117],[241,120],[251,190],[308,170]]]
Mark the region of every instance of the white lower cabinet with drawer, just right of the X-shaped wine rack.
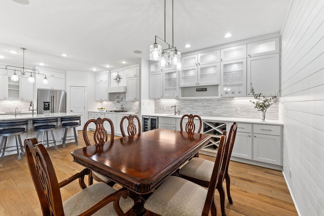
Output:
[[[228,124],[228,128],[230,128],[230,125],[232,125],[232,123]],[[252,124],[237,124],[232,156],[250,160],[252,159]]]

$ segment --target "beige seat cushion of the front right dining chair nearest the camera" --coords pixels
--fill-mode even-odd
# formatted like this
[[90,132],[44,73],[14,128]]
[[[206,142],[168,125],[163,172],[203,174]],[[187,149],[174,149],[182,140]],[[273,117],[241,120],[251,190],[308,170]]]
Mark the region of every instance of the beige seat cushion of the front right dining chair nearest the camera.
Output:
[[144,208],[159,215],[201,215],[207,190],[185,179],[171,176],[146,200]]

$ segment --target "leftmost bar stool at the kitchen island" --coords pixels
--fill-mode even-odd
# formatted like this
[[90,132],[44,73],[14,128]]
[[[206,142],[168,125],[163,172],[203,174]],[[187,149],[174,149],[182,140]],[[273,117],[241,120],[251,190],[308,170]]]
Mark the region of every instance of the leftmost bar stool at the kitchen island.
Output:
[[[22,155],[25,154],[23,145],[21,143],[20,135],[26,132],[27,125],[28,125],[28,120],[0,122],[0,127],[3,128],[0,129],[0,137],[2,137],[1,144],[0,144],[0,154],[2,158],[5,157],[7,138],[10,136],[15,136],[16,138],[16,146],[17,146],[17,154],[18,154],[17,159],[18,160],[21,159],[20,154]],[[18,142],[20,147],[18,146]],[[14,146],[10,146],[10,147],[14,147]],[[21,153],[19,152],[19,150],[21,150]],[[7,150],[7,151],[16,151],[16,150]]]

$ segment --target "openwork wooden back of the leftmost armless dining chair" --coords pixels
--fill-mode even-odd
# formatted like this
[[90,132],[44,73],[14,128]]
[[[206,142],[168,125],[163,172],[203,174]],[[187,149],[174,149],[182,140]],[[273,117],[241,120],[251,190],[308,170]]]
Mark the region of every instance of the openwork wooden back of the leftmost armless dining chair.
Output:
[[95,145],[97,144],[104,144],[105,142],[108,141],[108,133],[104,127],[104,123],[108,122],[110,124],[110,129],[111,129],[111,133],[110,133],[110,141],[113,141],[114,138],[114,126],[112,121],[109,118],[97,118],[97,119],[90,119],[86,122],[86,124],[83,127],[83,138],[85,140],[85,143],[87,146],[90,146],[91,143],[89,141],[88,138],[88,134],[87,134],[87,127],[90,123],[95,123],[96,125],[96,130],[93,134],[93,139],[95,142]]

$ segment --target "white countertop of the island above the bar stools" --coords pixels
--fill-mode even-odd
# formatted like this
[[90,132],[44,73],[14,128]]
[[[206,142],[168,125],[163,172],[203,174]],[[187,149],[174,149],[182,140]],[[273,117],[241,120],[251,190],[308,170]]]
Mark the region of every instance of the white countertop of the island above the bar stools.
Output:
[[6,114],[0,115],[0,121],[7,121],[7,120],[28,120],[28,119],[35,119],[35,118],[50,118],[50,117],[66,117],[66,116],[76,116],[82,115],[82,113],[49,113],[49,114],[22,114],[17,113],[15,114]]

